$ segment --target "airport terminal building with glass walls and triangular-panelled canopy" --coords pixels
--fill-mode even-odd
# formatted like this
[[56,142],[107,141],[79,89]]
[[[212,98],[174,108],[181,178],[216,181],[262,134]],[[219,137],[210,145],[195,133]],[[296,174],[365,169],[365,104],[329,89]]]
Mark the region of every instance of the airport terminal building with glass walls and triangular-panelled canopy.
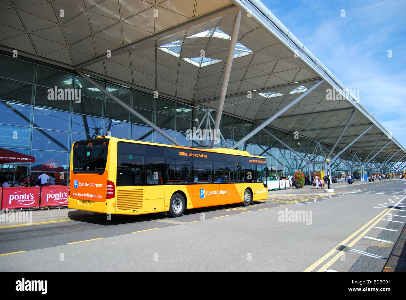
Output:
[[0,177],[67,182],[72,143],[100,135],[245,150],[279,175],[402,171],[359,91],[258,0],[0,0],[0,28],[0,148],[35,158]]

